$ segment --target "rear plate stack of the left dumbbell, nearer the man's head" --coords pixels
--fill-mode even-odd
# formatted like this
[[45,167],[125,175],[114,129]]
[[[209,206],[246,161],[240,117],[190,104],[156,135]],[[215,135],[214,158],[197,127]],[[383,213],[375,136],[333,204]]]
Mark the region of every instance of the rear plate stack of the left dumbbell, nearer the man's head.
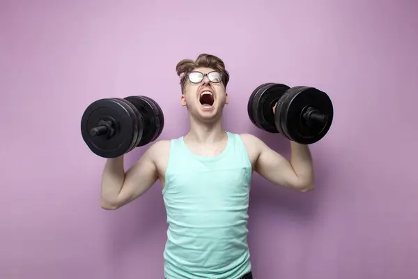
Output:
[[153,142],[164,127],[164,114],[157,103],[146,96],[129,96],[125,100],[132,103],[144,118],[144,132],[137,146]]

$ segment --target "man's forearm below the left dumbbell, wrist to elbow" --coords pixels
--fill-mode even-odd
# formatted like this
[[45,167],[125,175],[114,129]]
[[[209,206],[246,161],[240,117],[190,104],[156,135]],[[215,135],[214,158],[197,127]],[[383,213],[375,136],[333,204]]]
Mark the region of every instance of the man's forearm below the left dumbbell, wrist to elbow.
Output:
[[116,203],[124,181],[123,156],[107,159],[102,174],[102,203]]

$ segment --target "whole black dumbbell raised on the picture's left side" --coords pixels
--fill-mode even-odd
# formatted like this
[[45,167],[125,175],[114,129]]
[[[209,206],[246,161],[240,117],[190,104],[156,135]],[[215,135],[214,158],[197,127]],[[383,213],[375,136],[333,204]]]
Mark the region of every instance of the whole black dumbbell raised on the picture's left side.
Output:
[[81,128],[93,153],[116,158],[156,140],[164,128],[164,114],[155,100],[146,96],[104,98],[88,105]]

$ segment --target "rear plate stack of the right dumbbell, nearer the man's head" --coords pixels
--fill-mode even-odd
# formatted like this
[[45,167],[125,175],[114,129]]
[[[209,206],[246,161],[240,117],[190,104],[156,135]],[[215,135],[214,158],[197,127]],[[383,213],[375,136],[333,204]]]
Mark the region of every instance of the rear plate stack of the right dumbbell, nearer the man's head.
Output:
[[290,87],[285,84],[267,84],[254,96],[254,120],[258,126],[269,133],[279,133],[274,123],[272,108]]

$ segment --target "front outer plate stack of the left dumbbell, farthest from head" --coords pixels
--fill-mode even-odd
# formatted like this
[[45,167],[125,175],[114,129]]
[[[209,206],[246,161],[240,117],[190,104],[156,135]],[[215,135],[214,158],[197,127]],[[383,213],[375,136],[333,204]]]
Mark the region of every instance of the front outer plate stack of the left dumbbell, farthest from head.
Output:
[[[88,105],[82,115],[82,138],[88,148],[103,158],[116,158],[130,150],[136,140],[132,116],[125,103],[111,98],[96,100]],[[113,135],[91,135],[99,121],[111,121]]]

